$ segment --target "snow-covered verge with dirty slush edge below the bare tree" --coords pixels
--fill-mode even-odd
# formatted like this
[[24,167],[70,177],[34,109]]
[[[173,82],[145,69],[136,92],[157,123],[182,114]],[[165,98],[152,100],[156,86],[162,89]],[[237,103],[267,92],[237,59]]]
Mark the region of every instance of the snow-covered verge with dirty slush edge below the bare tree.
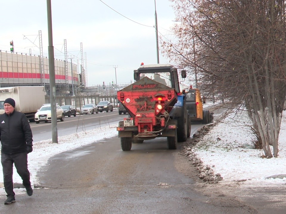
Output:
[[[185,148],[194,165],[198,163],[200,178],[204,181],[245,181],[245,183],[286,183],[286,119],[282,116],[278,158],[261,158],[263,150],[245,149],[253,145],[254,137],[247,129],[249,119],[245,112],[229,114],[213,128],[203,127]],[[210,125],[211,127],[212,125]],[[191,152],[190,152],[191,151]],[[212,166],[212,167],[210,167]]]

